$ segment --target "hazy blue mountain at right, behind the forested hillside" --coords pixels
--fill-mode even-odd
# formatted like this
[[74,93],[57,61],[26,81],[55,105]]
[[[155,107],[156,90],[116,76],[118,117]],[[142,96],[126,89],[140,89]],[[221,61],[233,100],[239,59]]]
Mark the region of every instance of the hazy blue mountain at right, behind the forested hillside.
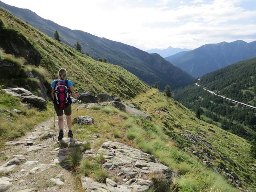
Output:
[[256,41],[206,44],[188,52],[180,52],[165,59],[182,70],[200,77],[232,63],[256,56]]

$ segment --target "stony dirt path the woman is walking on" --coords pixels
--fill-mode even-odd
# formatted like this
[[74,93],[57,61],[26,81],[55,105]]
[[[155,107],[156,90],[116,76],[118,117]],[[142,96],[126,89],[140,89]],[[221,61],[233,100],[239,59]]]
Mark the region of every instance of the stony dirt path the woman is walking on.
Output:
[[[53,124],[54,119],[50,118],[19,140],[6,143],[1,154],[8,159],[0,163],[0,191],[77,191],[72,173],[61,162],[71,148],[59,149],[58,120],[55,121],[54,140]],[[64,127],[64,143],[69,143],[68,138],[65,138],[67,130]]]

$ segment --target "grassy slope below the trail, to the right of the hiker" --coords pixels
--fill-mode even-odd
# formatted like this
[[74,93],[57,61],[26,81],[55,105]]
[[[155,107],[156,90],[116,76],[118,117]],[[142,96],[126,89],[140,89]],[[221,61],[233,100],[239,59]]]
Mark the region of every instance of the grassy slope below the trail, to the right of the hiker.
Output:
[[[202,148],[216,157],[215,160],[209,160],[214,167],[221,164],[230,171],[240,174],[240,180],[242,180],[242,175],[248,174],[251,184],[245,187],[248,189],[255,187],[255,175],[250,170],[254,160],[248,155],[250,144],[246,140],[197,120],[190,110],[173,99],[166,98],[156,89],[148,90],[146,94],[142,93],[127,101],[135,102],[144,112],[148,112],[152,121],[133,118],[115,108],[95,106],[91,110],[79,110],[79,116],[90,115],[95,123],[90,126],[75,125],[74,130],[77,130],[75,137],[79,140],[90,140],[91,135],[98,135],[100,139],[93,144],[93,148],[99,147],[104,141],[112,140],[153,154],[161,163],[166,164],[180,175],[174,178],[173,183],[173,187],[177,187],[178,191],[238,191],[226,183],[226,178],[216,174],[212,168],[203,166],[200,160],[191,153],[191,150],[202,152]],[[160,111],[161,108],[167,112]],[[169,128],[166,128],[163,122],[166,122]],[[208,131],[209,127],[216,130],[216,133]],[[193,146],[180,135],[185,131],[201,137],[206,136],[204,139],[211,144],[213,150],[200,142],[198,147]],[[227,138],[223,138],[222,135],[226,135]],[[175,139],[173,139],[174,136]],[[234,148],[234,144],[237,144],[239,148]],[[219,154],[228,157],[236,166],[221,160]]]

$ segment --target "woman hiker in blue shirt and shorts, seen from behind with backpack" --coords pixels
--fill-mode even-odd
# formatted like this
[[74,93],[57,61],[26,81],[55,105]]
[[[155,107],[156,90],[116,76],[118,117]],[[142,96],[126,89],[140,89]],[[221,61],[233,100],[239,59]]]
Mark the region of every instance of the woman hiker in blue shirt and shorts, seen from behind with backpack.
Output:
[[67,71],[64,68],[61,68],[59,70],[59,77],[60,79],[54,80],[52,82],[51,88],[52,88],[52,98],[54,103],[54,109],[56,111],[56,114],[58,116],[58,125],[59,125],[59,136],[58,140],[62,140],[63,138],[63,111],[66,115],[67,124],[68,124],[68,137],[73,137],[72,133],[72,122],[71,122],[71,99],[70,99],[70,93],[74,97],[78,97],[78,92],[74,92],[73,89],[73,82],[71,80],[66,79]]

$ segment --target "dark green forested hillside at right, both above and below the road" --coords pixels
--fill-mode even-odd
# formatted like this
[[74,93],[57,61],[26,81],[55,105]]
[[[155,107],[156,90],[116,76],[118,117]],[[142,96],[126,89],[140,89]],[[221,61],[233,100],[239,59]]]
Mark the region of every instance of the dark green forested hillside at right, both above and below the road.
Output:
[[[198,84],[219,95],[256,105],[256,58],[232,64],[206,74]],[[256,138],[256,112],[210,94],[194,84],[175,92],[174,98],[192,109],[200,108],[202,118],[234,134],[252,140]]]

